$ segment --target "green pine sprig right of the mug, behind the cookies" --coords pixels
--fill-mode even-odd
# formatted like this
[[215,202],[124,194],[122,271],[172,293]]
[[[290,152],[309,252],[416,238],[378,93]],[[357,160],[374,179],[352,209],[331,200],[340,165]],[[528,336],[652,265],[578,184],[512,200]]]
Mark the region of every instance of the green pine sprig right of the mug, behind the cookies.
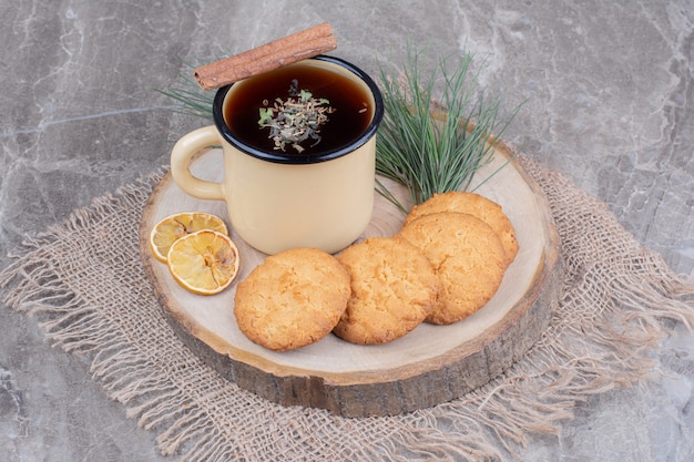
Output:
[[[467,191],[474,173],[491,161],[499,137],[521,106],[503,114],[501,99],[480,90],[473,54],[466,53],[452,72],[448,60],[441,59],[425,75],[422,53],[410,49],[397,80],[380,68],[385,116],[376,144],[376,172],[405,185],[412,204],[437,193]],[[377,191],[394,202],[382,185]]]

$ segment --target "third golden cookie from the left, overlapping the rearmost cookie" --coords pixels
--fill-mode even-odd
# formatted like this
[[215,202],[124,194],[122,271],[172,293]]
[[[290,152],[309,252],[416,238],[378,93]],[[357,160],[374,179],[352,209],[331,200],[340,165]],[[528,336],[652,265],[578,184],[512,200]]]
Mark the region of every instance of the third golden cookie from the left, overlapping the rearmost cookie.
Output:
[[429,258],[439,277],[439,304],[426,321],[457,322],[497,292],[506,271],[499,236],[481,219],[456,212],[410,220],[398,234]]

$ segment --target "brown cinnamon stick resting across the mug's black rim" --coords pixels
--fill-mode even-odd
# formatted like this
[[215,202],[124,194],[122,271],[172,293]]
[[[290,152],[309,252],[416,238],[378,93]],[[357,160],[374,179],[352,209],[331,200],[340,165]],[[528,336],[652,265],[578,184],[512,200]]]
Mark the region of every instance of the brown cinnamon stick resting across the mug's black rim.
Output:
[[205,64],[195,70],[203,90],[215,90],[252,75],[269,72],[337,48],[329,23],[314,25],[243,53]]

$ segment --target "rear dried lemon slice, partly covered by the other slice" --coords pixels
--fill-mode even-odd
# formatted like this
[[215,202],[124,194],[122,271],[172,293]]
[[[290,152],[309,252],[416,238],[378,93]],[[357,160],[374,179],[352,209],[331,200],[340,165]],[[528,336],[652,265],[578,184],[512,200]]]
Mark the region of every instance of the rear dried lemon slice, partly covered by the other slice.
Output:
[[150,247],[157,260],[166,263],[171,245],[188,234],[211,229],[228,234],[226,225],[218,216],[204,212],[183,212],[169,215],[159,222],[150,233]]

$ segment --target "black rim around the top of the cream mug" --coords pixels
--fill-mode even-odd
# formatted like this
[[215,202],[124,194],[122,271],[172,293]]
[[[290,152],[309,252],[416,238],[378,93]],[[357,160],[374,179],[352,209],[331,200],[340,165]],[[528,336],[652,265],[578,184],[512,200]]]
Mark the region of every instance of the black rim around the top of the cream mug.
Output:
[[224,120],[224,100],[226,99],[226,94],[228,93],[231,88],[234,85],[234,83],[232,83],[217,90],[214,96],[214,102],[212,104],[212,115],[214,119],[214,123],[224,140],[241,152],[263,161],[274,162],[278,164],[316,164],[319,162],[331,161],[334,158],[338,158],[346,154],[349,154],[365,145],[371,137],[374,137],[376,131],[378,130],[378,126],[380,125],[385,112],[384,99],[376,82],[361,69],[340,58],[319,54],[317,57],[309,58],[309,60],[325,61],[344,68],[345,70],[357,75],[357,78],[364,81],[364,83],[368,86],[369,91],[374,95],[374,116],[371,117],[371,122],[369,122],[369,125],[364,132],[359,134],[359,136],[357,136],[353,142],[344,146],[312,155],[278,154],[276,152],[268,152],[252,146],[234,136],[234,134],[227,126],[226,121]]

